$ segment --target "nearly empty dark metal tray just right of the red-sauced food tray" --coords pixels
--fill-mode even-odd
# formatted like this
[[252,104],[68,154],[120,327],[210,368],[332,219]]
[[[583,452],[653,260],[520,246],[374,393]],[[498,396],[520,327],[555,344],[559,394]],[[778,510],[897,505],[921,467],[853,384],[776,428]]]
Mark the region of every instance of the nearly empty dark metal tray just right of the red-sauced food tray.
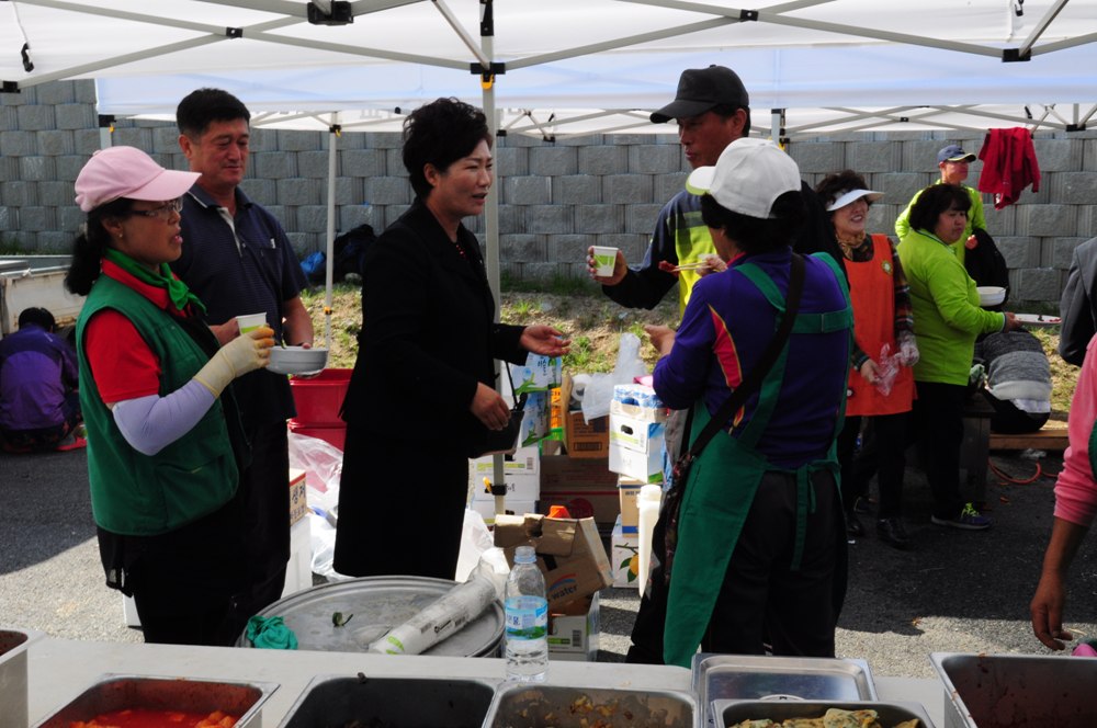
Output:
[[479,680],[320,675],[279,728],[479,728],[495,685]]

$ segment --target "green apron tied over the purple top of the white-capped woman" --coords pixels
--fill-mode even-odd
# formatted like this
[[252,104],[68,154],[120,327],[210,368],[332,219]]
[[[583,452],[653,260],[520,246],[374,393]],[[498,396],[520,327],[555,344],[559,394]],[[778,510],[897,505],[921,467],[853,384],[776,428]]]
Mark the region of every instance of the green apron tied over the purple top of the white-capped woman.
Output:
[[[829,255],[818,258],[830,263],[832,269],[836,268]],[[736,270],[761,291],[773,308],[780,314],[784,312],[784,297],[760,268],[754,263],[744,263]],[[849,330],[852,335],[852,311],[849,308],[848,291],[844,276],[840,272],[836,273],[846,293],[846,308],[826,314],[798,314],[792,329],[793,334]],[[779,325],[779,320],[774,321],[774,330]],[[798,523],[793,569],[799,568],[803,554],[807,514],[815,512],[812,475],[825,469],[834,474],[836,484],[839,480],[838,459],[833,441],[824,458],[807,463],[795,470],[774,466],[756,450],[777,406],[788,354],[789,346],[785,344],[761,383],[758,405],[740,435],[732,437],[721,436],[717,433],[690,468],[679,515],[678,549],[675,553],[664,628],[664,660],[667,664],[690,667],[693,653],[709,626],[727,572],[727,565],[762,476],[773,471],[793,473],[796,476]],[[836,399],[838,417],[835,420],[834,432],[837,434],[845,419],[844,388]],[[693,413],[692,431],[687,434],[686,442],[692,442],[710,419],[703,401],[698,401],[693,406]],[[738,413],[733,416],[735,417],[738,417]]]

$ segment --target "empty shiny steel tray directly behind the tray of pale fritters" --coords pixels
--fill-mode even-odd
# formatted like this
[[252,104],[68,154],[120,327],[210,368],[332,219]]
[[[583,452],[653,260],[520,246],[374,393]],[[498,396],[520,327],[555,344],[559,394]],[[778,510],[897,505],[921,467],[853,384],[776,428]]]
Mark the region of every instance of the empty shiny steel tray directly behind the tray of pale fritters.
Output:
[[848,658],[699,652],[693,656],[692,690],[708,726],[714,725],[711,703],[717,699],[877,699],[868,662]]

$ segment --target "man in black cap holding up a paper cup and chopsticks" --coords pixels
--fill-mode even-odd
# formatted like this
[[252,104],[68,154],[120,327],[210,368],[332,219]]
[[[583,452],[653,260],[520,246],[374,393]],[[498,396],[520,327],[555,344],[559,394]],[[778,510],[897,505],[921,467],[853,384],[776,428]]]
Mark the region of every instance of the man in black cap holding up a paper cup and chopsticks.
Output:
[[[671,120],[678,123],[678,139],[690,167],[710,167],[727,145],[750,133],[750,99],[743,81],[730,68],[690,68],[682,71],[675,100],[652,114],[655,124]],[[826,251],[840,265],[841,253],[818,198],[806,184],[803,194],[808,219],[794,248],[801,253]],[[701,221],[700,197],[683,189],[659,212],[640,268],[630,269],[621,251],[612,275],[596,274],[592,250],[588,251],[587,264],[606,295],[629,308],[655,308],[677,282],[679,311],[683,311],[693,284],[711,270],[720,270],[720,263],[676,269],[679,264],[699,264],[706,255],[715,257],[715,252],[709,228]]]

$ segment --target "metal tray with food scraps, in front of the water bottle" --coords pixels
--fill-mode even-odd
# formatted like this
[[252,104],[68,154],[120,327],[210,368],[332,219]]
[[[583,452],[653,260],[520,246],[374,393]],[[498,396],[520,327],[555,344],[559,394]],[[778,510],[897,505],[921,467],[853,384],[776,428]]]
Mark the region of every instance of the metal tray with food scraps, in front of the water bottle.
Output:
[[501,687],[491,728],[693,728],[693,698],[674,691],[511,684]]

